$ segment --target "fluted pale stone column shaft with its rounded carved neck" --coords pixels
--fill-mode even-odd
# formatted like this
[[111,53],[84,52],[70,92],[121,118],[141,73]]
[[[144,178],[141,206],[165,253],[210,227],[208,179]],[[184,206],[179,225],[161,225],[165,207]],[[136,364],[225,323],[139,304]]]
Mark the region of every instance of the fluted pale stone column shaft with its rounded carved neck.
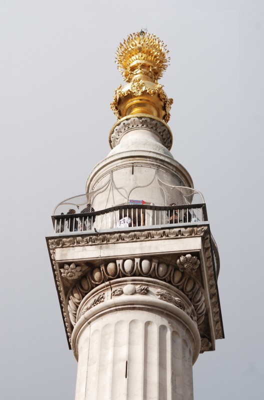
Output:
[[77,310],[75,400],[191,400],[200,350],[196,314],[175,287],[118,278],[91,290]]

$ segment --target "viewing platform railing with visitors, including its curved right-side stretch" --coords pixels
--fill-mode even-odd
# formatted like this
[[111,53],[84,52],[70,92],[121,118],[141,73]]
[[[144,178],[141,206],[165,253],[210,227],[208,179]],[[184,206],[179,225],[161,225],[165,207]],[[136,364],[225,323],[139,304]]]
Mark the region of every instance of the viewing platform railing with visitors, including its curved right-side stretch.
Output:
[[[68,203],[71,213],[53,215],[54,233],[57,235],[80,235],[101,231],[125,231],[146,229],[175,229],[208,225],[206,204],[177,206],[154,206],[145,204],[116,205],[99,211],[79,212],[77,204]],[[91,207],[90,207],[91,208]],[[60,208],[61,209],[61,208]],[[54,211],[60,210],[59,206]],[[215,240],[210,234],[215,272],[219,273],[219,254]]]

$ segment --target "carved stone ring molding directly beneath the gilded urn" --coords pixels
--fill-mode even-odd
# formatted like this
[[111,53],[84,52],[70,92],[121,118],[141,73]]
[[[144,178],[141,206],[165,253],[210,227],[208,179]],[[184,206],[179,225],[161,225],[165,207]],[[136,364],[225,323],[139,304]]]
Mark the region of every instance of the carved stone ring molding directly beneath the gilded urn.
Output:
[[129,129],[148,128],[153,130],[162,140],[162,144],[170,150],[172,145],[172,134],[169,127],[159,119],[146,116],[133,116],[127,119],[122,119],[114,125],[109,134],[110,147],[115,147],[120,140],[120,137]]

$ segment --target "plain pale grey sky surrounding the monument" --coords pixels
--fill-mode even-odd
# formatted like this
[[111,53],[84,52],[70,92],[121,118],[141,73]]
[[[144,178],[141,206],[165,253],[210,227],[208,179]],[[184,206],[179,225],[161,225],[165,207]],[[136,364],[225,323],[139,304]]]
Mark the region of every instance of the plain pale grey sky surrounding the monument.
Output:
[[[56,203],[107,155],[117,45],[167,44],[172,154],[205,197],[225,339],[193,367],[195,400],[262,399],[263,1],[0,0],[1,398],[72,400],[45,243]],[[262,129],[261,129],[262,127]]]

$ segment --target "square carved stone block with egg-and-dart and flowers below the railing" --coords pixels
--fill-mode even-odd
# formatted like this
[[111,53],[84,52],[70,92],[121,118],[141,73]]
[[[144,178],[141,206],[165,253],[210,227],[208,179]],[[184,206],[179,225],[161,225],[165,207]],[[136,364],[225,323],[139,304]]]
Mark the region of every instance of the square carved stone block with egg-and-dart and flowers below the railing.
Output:
[[[213,251],[206,225],[52,237],[47,242],[68,339],[86,295],[96,292],[101,284],[113,285],[118,279],[136,277],[166,282],[185,295],[195,311],[201,336],[211,343],[209,349],[214,349],[215,338],[223,336]],[[110,255],[111,249],[116,249],[113,243],[118,245],[118,254],[123,254],[119,258]],[[191,251],[182,252],[182,245]],[[147,249],[145,254],[135,255],[139,248]],[[170,252],[166,253],[166,249]],[[129,286],[114,285],[111,296],[149,295],[146,283],[130,287],[130,293],[128,289]],[[166,291],[154,296],[175,305],[178,296]],[[95,294],[87,307],[93,308],[99,300],[104,301],[98,297],[99,293]]]

